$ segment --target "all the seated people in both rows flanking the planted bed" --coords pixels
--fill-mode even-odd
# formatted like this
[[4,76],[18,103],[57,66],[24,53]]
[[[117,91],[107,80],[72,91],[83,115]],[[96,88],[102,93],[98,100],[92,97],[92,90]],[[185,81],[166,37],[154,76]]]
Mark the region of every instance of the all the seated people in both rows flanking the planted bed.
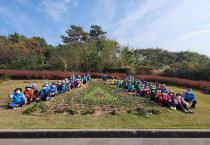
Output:
[[[106,75],[104,75],[102,79],[104,81],[108,80]],[[30,104],[33,101],[48,101],[51,97],[81,87],[82,84],[86,84],[89,80],[91,80],[90,75],[84,75],[83,77],[80,75],[74,77],[73,75],[70,79],[66,78],[64,81],[57,81],[57,83],[52,82],[52,85],[45,82],[40,91],[37,89],[35,83],[33,83],[32,86],[27,85],[23,92],[21,88],[16,88],[14,93],[9,93],[9,98],[13,99],[13,103],[8,103],[8,106],[16,109],[25,104]],[[188,88],[183,94],[177,93],[175,95],[172,90],[167,90],[165,84],[156,82],[154,86],[152,82],[148,83],[147,81],[134,79],[131,75],[125,78],[124,81],[120,79],[115,80],[114,77],[112,77],[110,82],[111,85],[116,85],[128,92],[137,92],[140,96],[148,97],[152,101],[157,102],[160,106],[169,107],[172,110],[179,109],[185,113],[192,113],[190,108],[195,108],[197,103],[195,94],[192,92],[191,88]],[[188,103],[191,104],[190,107]]]

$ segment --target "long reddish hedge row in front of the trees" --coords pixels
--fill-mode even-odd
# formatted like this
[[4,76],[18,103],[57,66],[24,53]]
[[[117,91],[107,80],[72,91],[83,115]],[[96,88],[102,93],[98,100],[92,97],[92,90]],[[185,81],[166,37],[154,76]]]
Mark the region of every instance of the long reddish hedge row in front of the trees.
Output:
[[[56,71],[25,71],[25,70],[0,70],[0,77],[2,76],[9,76],[11,79],[65,79],[70,78],[72,75],[74,76],[80,74],[81,76],[87,73],[80,73],[80,72],[56,72]],[[92,78],[101,78],[104,74],[103,73],[90,73]],[[121,73],[113,73],[113,74],[106,74],[108,78],[114,76],[116,79],[121,78],[124,79],[127,77],[127,74]],[[179,78],[172,78],[172,77],[163,77],[157,75],[134,75],[134,78],[139,78],[141,80],[165,83],[168,85],[178,85],[183,87],[190,87],[194,89],[200,89],[207,91],[210,93],[210,82],[207,81],[193,81],[188,79],[179,79]]]

